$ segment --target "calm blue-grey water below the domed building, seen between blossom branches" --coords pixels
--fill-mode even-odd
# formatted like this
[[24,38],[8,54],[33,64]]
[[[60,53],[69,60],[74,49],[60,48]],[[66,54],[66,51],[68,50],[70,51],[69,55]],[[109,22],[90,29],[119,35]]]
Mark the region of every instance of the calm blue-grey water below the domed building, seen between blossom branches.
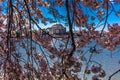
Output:
[[[26,40],[24,40],[26,41]],[[57,40],[53,40],[53,42],[55,43],[56,47],[59,45],[59,43],[62,43],[61,41],[57,41]],[[83,48],[77,48],[81,49],[83,52],[86,52],[86,54],[84,55],[84,57],[86,58],[86,60],[89,59],[90,57],[90,48],[92,46],[94,46],[96,44],[95,41],[91,41],[89,44],[87,44],[85,47]],[[28,45],[30,45],[28,43]],[[36,50],[40,51],[40,53],[42,53],[41,48],[43,49],[43,51],[45,53],[47,53],[46,49],[44,49],[42,46],[39,46],[37,44],[35,44],[33,42],[33,46],[36,46]],[[70,43],[68,45],[68,48],[70,48]],[[117,46],[116,49],[114,51],[109,51],[103,47],[101,47],[100,45],[96,46],[96,49],[100,49],[101,52],[98,54],[94,54],[92,56],[92,60],[96,61],[98,63],[100,63],[102,65],[102,68],[105,70],[106,72],[106,77],[105,78],[101,78],[101,80],[108,80],[108,77],[114,73],[115,71],[117,71],[118,69],[120,69],[120,46]],[[22,48],[18,48],[19,52],[24,53],[25,50]],[[79,57],[79,54],[77,54],[77,52],[75,53],[75,56]],[[26,55],[23,55],[23,57],[27,57]],[[79,73],[80,77],[83,77],[83,71],[85,69],[86,66],[86,62],[83,62],[83,67],[82,67],[82,71]],[[111,80],[120,80],[120,72],[117,73],[115,76],[112,77]],[[90,75],[86,75],[88,80],[91,80],[91,74]]]

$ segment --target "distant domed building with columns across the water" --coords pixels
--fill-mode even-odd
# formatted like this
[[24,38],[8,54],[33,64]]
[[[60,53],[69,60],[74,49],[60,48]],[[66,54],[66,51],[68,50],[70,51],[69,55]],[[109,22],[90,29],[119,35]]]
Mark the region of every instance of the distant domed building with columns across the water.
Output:
[[66,28],[60,24],[60,23],[56,23],[54,24],[52,27],[47,28],[49,34],[54,34],[54,35],[63,35],[66,34]]

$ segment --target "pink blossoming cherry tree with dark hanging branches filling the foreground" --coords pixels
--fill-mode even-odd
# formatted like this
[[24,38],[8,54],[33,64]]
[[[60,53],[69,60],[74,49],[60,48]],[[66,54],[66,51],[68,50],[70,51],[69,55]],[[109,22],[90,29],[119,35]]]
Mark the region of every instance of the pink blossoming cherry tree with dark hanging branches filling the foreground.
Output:
[[[101,53],[98,44],[110,51],[120,44],[120,25],[108,22],[113,13],[119,18],[119,4],[119,0],[0,0],[3,79],[87,80],[88,74],[92,80],[104,79],[102,65],[92,61],[92,56]],[[68,26],[67,36],[57,38],[42,30],[41,25],[56,22]],[[79,29],[76,34],[74,28]],[[87,51],[90,57],[85,60],[86,52],[81,48],[91,41],[96,44]]]

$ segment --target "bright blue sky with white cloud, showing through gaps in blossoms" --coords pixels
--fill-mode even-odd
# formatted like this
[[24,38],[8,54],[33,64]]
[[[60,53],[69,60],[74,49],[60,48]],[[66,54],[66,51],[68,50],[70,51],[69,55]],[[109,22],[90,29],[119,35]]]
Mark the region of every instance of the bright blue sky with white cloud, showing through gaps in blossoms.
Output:
[[[14,1],[14,0],[13,0],[13,1]],[[114,1],[114,0],[111,0],[111,1]],[[3,13],[4,13],[4,14],[7,12],[6,3],[7,3],[7,2],[0,3],[0,6],[2,6],[2,8],[3,8]],[[119,4],[115,4],[114,2],[112,2],[112,5],[114,6],[114,11],[120,11],[120,5],[119,5]],[[83,7],[83,5],[81,5],[81,6]],[[66,8],[65,8],[65,6],[63,6],[63,7],[56,6],[56,7],[53,7],[53,8],[57,9],[58,12],[59,12],[59,14],[61,14],[61,15],[63,15],[63,16],[66,16]],[[44,15],[45,17],[51,18],[51,19],[54,19],[54,20],[55,20],[55,18],[54,18],[51,14],[48,13],[48,12],[49,12],[48,8],[40,7],[40,10],[43,12],[43,15]],[[85,8],[83,8],[82,10],[83,10],[83,12],[84,12],[86,15],[89,15],[89,14],[90,14],[90,15],[94,15],[94,14],[96,14],[96,12],[92,11],[92,12],[94,13],[94,14],[93,14],[93,13],[91,13],[88,9],[85,9]],[[109,10],[109,12],[110,12],[110,11],[111,11],[111,10]],[[88,13],[89,13],[89,14],[88,14]],[[68,27],[68,26],[66,26],[66,25],[64,24],[65,22],[64,22],[63,20],[57,19],[57,20],[55,20],[55,21],[63,24],[65,27]],[[89,22],[91,23],[91,20],[89,20]],[[98,19],[95,19],[94,22],[97,24],[97,23],[99,23],[99,20],[98,20]],[[108,22],[109,24],[113,24],[113,23],[118,23],[118,24],[120,24],[120,17],[117,17],[117,16],[115,15],[115,13],[112,12],[112,13],[109,15],[109,17],[108,17],[108,21],[107,21],[107,22]],[[104,23],[104,21],[103,21],[102,23]],[[42,24],[42,23],[40,22],[39,25],[40,25],[41,28],[48,28],[48,27],[51,27],[53,24],[47,22],[47,25],[44,25],[44,24]],[[103,26],[97,28],[97,30],[101,30],[102,27],[103,27]],[[68,29],[68,28],[67,28],[67,29]],[[78,28],[76,28],[76,29],[78,29]],[[107,30],[107,28],[106,28],[106,30]]]

